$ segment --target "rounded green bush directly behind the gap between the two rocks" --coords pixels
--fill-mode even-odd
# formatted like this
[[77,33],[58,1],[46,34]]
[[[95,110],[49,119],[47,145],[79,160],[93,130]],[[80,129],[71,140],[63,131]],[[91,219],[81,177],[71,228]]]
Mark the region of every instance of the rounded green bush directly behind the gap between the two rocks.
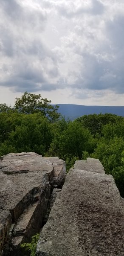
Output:
[[[65,121],[61,121],[65,125]],[[60,125],[60,123],[59,123]],[[88,129],[82,127],[82,125],[77,122],[66,122],[64,128],[58,128],[54,130],[54,136],[51,146],[47,152],[47,156],[59,156],[66,162],[70,159],[82,159],[82,151],[87,150],[90,153],[93,152],[96,145],[95,139],[88,131]]]

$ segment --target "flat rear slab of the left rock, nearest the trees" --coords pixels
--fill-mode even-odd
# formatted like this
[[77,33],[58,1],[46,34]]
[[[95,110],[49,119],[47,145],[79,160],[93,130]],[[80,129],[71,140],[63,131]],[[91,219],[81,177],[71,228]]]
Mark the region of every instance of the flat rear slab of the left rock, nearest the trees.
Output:
[[[54,185],[58,186],[65,181],[65,162],[58,157],[42,157],[36,153],[18,153],[8,154],[1,157],[0,161],[1,173],[13,175],[28,172],[47,172]],[[53,176],[52,176],[53,171]]]

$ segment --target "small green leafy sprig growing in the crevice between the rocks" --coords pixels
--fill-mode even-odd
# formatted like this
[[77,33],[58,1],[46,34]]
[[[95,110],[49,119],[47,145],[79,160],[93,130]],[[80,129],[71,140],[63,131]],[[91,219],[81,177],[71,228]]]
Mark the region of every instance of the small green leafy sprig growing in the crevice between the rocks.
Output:
[[20,246],[22,248],[25,248],[25,251],[27,250],[30,251],[31,252],[30,256],[36,256],[38,240],[39,240],[39,233],[37,233],[35,236],[32,236],[31,243],[24,243],[24,244],[21,244]]

